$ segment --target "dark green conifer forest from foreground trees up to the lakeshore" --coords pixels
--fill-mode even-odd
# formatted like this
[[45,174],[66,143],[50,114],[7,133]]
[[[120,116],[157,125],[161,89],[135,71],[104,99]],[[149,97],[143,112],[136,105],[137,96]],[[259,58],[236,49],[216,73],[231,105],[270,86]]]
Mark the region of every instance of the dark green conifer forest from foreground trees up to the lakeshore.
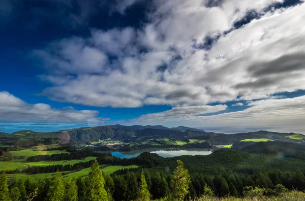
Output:
[[[273,149],[268,149],[271,145]],[[64,182],[63,176],[57,172],[54,173],[55,176],[52,179],[46,178],[38,181],[21,179],[7,182],[6,176],[3,174],[0,188],[5,189],[2,190],[3,192],[10,191],[12,200],[27,200],[29,196],[33,195],[35,195],[33,200],[71,200],[69,197],[77,197],[78,200],[185,200],[207,195],[212,197],[277,196],[289,190],[305,190],[305,160],[301,157],[295,158],[290,154],[293,145],[275,144],[274,142],[258,143],[257,146],[263,154],[258,154],[258,149],[254,146],[242,151],[219,150],[206,156],[170,158],[148,152],[143,152],[138,157],[130,159],[117,158],[111,154],[99,154],[97,162],[88,162],[87,165],[92,166],[92,173],[87,177]],[[280,157],[276,149],[281,150]],[[294,152],[297,153],[297,156],[302,156],[304,151],[305,148],[300,145]],[[87,154],[97,153],[75,151],[75,155],[80,157],[87,156]],[[48,157],[37,156],[35,160],[44,160]],[[66,154],[58,154],[53,159],[60,160],[63,157],[66,157]],[[105,176],[100,169],[102,164],[137,164],[139,167],[122,169],[110,176]],[[58,171],[62,171],[57,166],[52,171],[57,171],[56,168]],[[62,187],[57,188],[56,186]],[[90,188],[88,189],[88,187]],[[66,190],[64,192],[56,191],[63,189]],[[100,190],[91,192],[90,189]],[[19,192],[20,195],[18,193],[15,195],[14,192]],[[55,195],[62,197],[52,198]],[[19,198],[16,199],[13,196],[19,196]],[[94,198],[95,196],[104,198]],[[10,198],[1,199],[0,197],[0,200],[10,200]]]

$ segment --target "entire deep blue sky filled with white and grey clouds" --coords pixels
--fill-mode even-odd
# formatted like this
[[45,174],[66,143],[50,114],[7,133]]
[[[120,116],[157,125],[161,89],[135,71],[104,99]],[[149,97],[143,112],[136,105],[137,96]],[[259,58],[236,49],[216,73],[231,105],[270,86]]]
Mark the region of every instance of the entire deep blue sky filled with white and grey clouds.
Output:
[[0,131],[305,133],[303,0],[0,0]]

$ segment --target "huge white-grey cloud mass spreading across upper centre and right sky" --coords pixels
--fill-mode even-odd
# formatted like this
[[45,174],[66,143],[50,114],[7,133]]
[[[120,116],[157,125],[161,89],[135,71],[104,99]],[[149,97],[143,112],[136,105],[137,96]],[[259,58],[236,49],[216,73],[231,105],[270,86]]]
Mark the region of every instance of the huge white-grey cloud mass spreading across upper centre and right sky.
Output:
[[[304,4],[266,11],[282,1],[161,2],[142,28],[94,29],[35,50],[50,69],[41,77],[54,85],[42,94],[99,107],[188,107],[305,89]],[[232,29],[249,10],[263,15]],[[217,40],[194,48],[206,37]]]

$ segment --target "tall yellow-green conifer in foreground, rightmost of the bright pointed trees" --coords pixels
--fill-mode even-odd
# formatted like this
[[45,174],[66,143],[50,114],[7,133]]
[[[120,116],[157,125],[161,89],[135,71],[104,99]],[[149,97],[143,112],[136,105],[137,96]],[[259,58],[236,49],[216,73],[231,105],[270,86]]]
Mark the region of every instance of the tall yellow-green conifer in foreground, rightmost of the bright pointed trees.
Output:
[[181,160],[177,160],[177,167],[170,182],[172,198],[183,200],[189,193],[190,183],[191,177],[189,171],[184,168],[184,163]]

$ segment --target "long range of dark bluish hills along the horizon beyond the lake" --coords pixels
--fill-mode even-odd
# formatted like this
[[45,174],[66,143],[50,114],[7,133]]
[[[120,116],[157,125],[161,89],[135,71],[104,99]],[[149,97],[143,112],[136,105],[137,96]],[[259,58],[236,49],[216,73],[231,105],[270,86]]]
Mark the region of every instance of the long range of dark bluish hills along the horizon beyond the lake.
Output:
[[[145,143],[142,142],[145,142],[147,140],[153,142],[157,139],[168,139],[173,142],[183,141],[185,143],[188,143],[190,140],[196,140],[202,143],[206,142],[210,146],[215,146],[215,148],[217,149],[231,148],[234,150],[239,150],[242,147],[253,145],[261,141],[280,141],[305,144],[305,136],[296,133],[280,133],[260,130],[257,132],[245,132],[227,135],[224,133],[205,132],[201,129],[189,128],[185,126],[168,128],[162,125],[125,126],[117,124],[96,127],[73,128],[54,132],[35,132],[32,130],[21,130],[11,134],[0,133],[0,142],[2,142],[2,144],[11,143],[9,145],[22,145],[24,144],[23,140],[28,141],[36,139],[41,139],[41,141],[44,141],[43,143],[47,143],[47,139],[54,139],[56,142],[62,144],[78,143],[82,145],[85,145],[88,142],[93,143],[109,140],[116,141],[112,144],[120,143],[124,145],[145,145]],[[35,143],[37,144],[39,142]],[[157,146],[157,144],[158,143],[155,143],[153,145]],[[151,143],[148,143],[147,146],[148,145],[151,145]],[[195,145],[193,145],[193,147],[195,147]]]

